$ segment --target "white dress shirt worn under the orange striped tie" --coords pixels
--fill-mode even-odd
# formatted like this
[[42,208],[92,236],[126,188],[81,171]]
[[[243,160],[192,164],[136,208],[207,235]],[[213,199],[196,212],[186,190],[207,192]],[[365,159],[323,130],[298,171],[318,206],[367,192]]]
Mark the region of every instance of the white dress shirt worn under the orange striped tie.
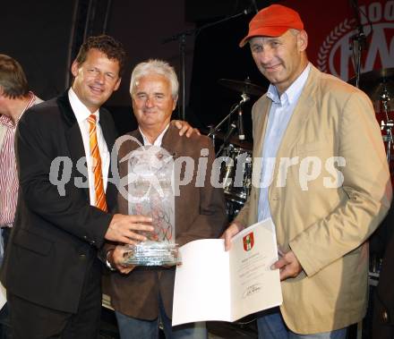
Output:
[[[70,100],[70,105],[73,108],[73,113],[75,114],[75,118],[77,119],[78,125],[80,126],[82,140],[83,140],[83,148],[85,149],[86,155],[86,163],[88,165],[88,182],[89,182],[89,195],[90,195],[90,205],[96,205],[96,192],[94,190],[94,175],[91,166],[91,156],[90,156],[90,137],[89,137],[89,122],[88,118],[90,114],[90,110],[81,103],[81,100],[73,89],[69,89],[68,98]],[[101,157],[101,169],[103,172],[103,184],[104,191],[107,190],[107,182],[108,182],[108,169],[109,169],[109,151],[107,148],[107,142],[104,139],[103,131],[101,131],[101,126],[99,124],[99,110],[94,112],[96,115],[96,123],[97,123],[97,140],[99,143],[99,153]],[[76,164],[73,164],[76,165]]]

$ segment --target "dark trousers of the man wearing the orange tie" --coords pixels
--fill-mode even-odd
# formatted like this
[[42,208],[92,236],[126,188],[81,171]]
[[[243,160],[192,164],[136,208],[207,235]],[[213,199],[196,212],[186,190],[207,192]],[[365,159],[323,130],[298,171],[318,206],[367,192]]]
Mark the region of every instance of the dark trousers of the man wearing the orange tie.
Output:
[[101,316],[101,268],[87,272],[77,313],[48,309],[7,292],[13,339],[97,339]]

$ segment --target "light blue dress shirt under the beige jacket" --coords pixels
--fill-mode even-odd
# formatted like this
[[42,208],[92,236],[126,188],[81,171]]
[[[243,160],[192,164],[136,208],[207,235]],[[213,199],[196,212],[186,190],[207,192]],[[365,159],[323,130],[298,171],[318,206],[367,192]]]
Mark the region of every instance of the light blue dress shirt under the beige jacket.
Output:
[[[265,132],[264,143],[261,154],[261,179],[260,196],[258,208],[258,221],[271,217],[268,190],[272,181],[272,174],[275,166],[280,142],[287,129],[287,124],[293,115],[295,106],[301,92],[304,89],[308,78],[311,64],[308,64],[304,72],[291,84],[291,86],[279,97],[275,86],[270,84],[267,97],[272,100],[270,113],[268,116],[267,129]],[[275,184],[275,182],[273,183]]]

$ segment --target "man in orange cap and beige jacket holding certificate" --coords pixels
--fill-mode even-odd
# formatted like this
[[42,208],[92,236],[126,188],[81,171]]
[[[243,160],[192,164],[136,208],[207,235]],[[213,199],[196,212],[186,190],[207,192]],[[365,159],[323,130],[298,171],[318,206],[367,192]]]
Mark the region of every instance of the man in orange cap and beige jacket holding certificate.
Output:
[[253,189],[223,234],[276,227],[283,304],[262,312],[259,338],[346,338],[367,306],[366,240],[391,201],[388,165],[371,101],[319,72],[294,10],[257,13],[249,43],[270,88],[253,106]]

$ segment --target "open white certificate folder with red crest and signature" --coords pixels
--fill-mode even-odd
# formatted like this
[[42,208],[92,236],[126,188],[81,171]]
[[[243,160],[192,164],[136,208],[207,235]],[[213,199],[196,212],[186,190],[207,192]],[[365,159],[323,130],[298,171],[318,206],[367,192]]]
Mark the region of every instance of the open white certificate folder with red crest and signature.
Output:
[[282,303],[275,228],[271,219],[236,234],[225,251],[221,239],[189,242],[176,267],[172,325],[235,321]]

